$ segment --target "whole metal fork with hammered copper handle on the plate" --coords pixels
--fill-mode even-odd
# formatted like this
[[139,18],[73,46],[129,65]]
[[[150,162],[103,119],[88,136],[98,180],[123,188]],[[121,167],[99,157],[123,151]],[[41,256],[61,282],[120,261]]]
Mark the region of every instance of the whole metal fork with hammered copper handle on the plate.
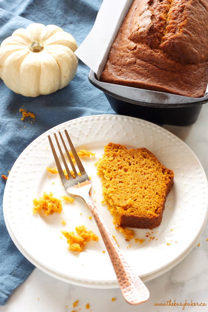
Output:
[[91,181],[80,161],[80,158],[78,157],[75,148],[71,142],[71,139],[69,137],[69,134],[66,130],[65,135],[69,142],[71,152],[75,158],[77,167],[79,168],[80,174],[78,175],[75,166],[72,162],[72,159],[70,157],[69,151],[67,149],[67,146],[65,144],[65,141],[63,139],[62,134],[59,131],[60,139],[62,141],[62,144],[65,149],[65,153],[67,155],[67,158],[70,161],[70,165],[72,170],[74,171],[75,178],[72,177],[70,173],[70,169],[67,165],[65,156],[61,150],[61,146],[59,144],[59,140],[57,138],[56,133],[54,133],[56,144],[58,146],[60,156],[62,158],[62,161],[64,163],[65,170],[68,174],[69,180],[66,179],[65,174],[63,172],[62,166],[60,164],[58,155],[56,153],[55,147],[52,143],[50,135],[48,135],[48,139],[51,145],[52,153],[56,162],[56,166],[61,178],[61,181],[63,183],[64,188],[69,194],[79,196],[84,199],[86,204],[88,205],[94,220],[99,228],[100,234],[102,236],[102,239],[104,241],[104,244],[106,246],[106,249],[109,253],[112,265],[114,267],[114,271],[116,273],[118,283],[121,289],[121,292],[123,294],[123,298],[131,305],[139,305],[149,298],[149,291],[147,287],[143,284],[143,282],[140,280],[140,278],[134,274],[132,269],[129,267],[128,263],[125,261],[119,247],[117,246],[113,236],[109,232],[107,226],[105,225],[104,221],[102,220],[102,217],[99,214],[99,211],[95,207],[93,201],[90,198],[89,191],[91,188]]

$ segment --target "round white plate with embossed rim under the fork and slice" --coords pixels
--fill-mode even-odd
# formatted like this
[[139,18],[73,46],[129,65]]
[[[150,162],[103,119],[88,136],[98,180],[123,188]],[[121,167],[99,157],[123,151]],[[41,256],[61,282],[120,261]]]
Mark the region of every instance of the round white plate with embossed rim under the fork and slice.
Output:
[[[208,188],[204,170],[196,155],[174,134],[145,120],[121,115],[87,116],[60,124],[38,137],[19,156],[7,179],[3,212],[8,232],[22,254],[41,270],[69,283],[118,287],[101,239],[88,243],[79,254],[67,249],[61,230],[74,231],[76,226],[84,224],[100,237],[82,199],[75,198],[72,204],[63,201],[61,214],[32,213],[32,199],[41,197],[44,191],[51,191],[55,197],[66,194],[58,174],[46,170],[47,166],[56,167],[47,136],[64,129],[70,133],[77,150],[85,148],[96,154],[83,159],[92,180],[91,197],[133,270],[143,280],[149,280],[180,262],[194,247],[207,221]],[[135,230],[135,237],[144,239],[142,244],[125,241],[115,230],[106,206],[101,204],[101,182],[94,164],[110,141],[148,148],[175,174],[161,225],[152,231]]]

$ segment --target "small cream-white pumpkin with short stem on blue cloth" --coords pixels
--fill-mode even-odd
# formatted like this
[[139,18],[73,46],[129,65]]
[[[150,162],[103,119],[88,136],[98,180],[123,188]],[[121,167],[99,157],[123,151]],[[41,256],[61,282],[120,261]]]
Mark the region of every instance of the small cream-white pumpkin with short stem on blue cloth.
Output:
[[76,74],[77,44],[55,25],[20,28],[0,46],[0,78],[24,96],[46,95],[64,88]]

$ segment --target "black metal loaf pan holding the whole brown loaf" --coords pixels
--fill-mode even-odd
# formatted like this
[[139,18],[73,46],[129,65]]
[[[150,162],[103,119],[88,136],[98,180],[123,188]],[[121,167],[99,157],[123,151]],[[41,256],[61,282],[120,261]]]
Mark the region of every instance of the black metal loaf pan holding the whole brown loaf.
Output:
[[156,124],[194,124],[202,105],[208,102],[208,93],[202,98],[192,98],[114,85],[99,81],[92,70],[89,71],[88,78],[92,85],[104,92],[117,114],[145,119]]

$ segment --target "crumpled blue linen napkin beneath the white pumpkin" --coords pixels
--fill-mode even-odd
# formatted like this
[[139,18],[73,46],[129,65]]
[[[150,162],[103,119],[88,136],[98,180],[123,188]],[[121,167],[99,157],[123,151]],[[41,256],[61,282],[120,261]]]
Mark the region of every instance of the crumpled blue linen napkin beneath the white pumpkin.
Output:
[[[101,0],[2,0],[0,43],[16,29],[37,22],[61,27],[73,35],[79,46],[91,30],[101,3]],[[114,114],[104,94],[89,83],[88,73],[89,68],[79,61],[77,74],[68,86],[36,98],[15,94],[0,80],[0,305],[7,302],[34,269],[7,232],[2,211],[6,181],[1,175],[8,176],[21,152],[48,129],[81,116]],[[29,118],[21,120],[19,110],[23,106],[36,115],[36,122],[31,124]]]

